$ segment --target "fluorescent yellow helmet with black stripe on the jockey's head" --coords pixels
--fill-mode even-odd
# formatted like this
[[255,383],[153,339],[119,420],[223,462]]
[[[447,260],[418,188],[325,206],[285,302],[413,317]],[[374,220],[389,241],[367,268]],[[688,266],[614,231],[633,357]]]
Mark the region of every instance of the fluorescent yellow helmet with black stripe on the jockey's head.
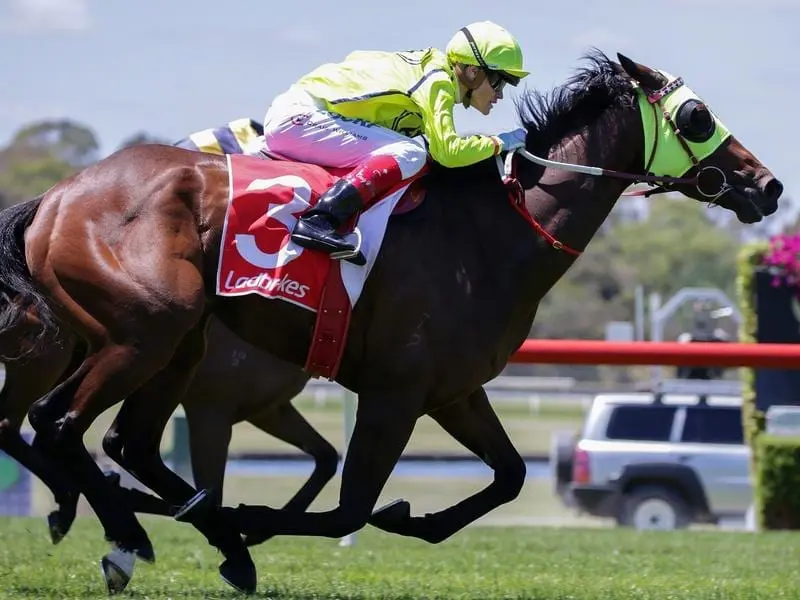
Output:
[[501,74],[511,85],[517,85],[528,71],[522,68],[522,49],[516,38],[491,21],[480,21],[462,27],[445,48],[452,63],[482,67]]

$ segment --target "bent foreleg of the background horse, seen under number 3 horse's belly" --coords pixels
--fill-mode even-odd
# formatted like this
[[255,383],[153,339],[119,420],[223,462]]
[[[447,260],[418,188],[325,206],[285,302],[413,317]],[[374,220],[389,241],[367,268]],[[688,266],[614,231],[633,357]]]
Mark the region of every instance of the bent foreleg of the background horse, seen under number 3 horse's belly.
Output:
[[[248,418],[248,421],[281,441],[310,454],[314,459],[314,470],[303,486],[283,506],[284,510],[302,512],[319,495],[328,482],[336,475],[339,466],[339,453],[322,437],[298,410],[289,404],[270,407],[269,410]],[[248,536],[248,546],[260,544],[269,539],[263,536]]]

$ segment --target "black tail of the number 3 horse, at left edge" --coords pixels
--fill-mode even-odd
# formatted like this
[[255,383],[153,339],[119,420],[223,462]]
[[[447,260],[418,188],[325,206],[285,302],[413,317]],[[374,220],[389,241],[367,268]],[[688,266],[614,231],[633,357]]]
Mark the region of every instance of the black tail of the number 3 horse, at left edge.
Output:
[[[38,351],[59,329],[56,315],[34,286],[25,262],[25,230],[41,203],[39,196],[0,211],[0,334],[18,327],[30,310],[42,324],[25,354]],[[20,350],[22,346],[20,343]]]

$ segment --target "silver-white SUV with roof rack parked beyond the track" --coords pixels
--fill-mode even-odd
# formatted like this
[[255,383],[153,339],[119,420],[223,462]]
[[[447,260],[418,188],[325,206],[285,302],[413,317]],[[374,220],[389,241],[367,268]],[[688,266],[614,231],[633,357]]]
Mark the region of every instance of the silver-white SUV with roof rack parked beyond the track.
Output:
[[575,506],[622,526],[676,529],[741,519],[753,502],[735,395],[601,394],[571,462]]

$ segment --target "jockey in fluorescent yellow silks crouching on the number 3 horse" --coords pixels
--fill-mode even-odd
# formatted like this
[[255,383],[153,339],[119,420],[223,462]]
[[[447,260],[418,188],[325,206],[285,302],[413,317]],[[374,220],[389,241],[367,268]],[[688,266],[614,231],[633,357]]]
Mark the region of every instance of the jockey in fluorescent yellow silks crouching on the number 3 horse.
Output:
[[[461,167],[524,146],[524,129],[459,137],[453,109],[461,103],[488,115],[504,86],[527,75],[514,36],[483,21],[459,30],[445,52],[353,52],[302,77],[267,111],[267,150],[352,170],[299,218],[292,241],[335,259],[352,258],[357,248],[337,230],[419,173],[428,152],[445,167]],[[412,139],[422,134],[428,148]]]

